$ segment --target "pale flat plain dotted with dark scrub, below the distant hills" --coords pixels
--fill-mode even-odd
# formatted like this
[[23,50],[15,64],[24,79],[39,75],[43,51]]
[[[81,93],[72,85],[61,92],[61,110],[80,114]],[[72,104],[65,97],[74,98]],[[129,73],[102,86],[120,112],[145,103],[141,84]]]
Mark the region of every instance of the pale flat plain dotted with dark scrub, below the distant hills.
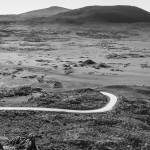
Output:
[[65,88],[70,81],[149,86],[149,31],[149,24],[1,25],[0,85],[39,84],[43,77],[63,80]]

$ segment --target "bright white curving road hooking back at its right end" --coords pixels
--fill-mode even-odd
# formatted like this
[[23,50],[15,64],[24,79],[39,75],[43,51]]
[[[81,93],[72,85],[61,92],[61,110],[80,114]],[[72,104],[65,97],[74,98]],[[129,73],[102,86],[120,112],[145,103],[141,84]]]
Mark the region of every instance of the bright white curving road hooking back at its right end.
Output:
[[109,102],[103,108],[94,110],[69,110],[69,109],[58,109],[58,108],[41,108],[41,107],[0,107],[0,111],[41,111],[41,112],[65,112],[65,113],[80,113],[80,114],[91,114],[91,113],[103,113],[111,111],[117,103],[117,97],[107,92],[101,92],[103,95],[109,98]]

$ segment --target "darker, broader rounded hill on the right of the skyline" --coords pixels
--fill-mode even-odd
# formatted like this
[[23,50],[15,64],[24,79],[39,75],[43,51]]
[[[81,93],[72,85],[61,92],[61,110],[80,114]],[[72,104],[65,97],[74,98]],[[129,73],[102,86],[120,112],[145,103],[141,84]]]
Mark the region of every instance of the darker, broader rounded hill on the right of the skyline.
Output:
[[55,15],[48,20],[77,24],[150,22],[150,13],[133,6],[88,6]]

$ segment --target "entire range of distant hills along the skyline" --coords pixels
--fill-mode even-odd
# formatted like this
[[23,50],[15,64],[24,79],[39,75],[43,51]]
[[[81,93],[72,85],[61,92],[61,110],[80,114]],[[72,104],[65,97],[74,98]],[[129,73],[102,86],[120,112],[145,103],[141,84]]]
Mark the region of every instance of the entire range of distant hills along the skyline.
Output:
[[14,21],[22,23],[63,23],[63,24],[88,24],[88,23],[136,23],[150,22],[150,13],[141,8],[117,6],[88,6],[69,10],[62,7],[49,7],[34,10],[19,15],[1,15],[0,22]]

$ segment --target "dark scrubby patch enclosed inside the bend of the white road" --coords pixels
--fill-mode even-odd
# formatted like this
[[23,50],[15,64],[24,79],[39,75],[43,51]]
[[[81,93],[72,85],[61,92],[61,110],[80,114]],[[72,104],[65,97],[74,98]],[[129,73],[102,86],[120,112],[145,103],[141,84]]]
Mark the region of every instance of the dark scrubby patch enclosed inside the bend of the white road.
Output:
[[[60,88],[55,84],[54,88]],[[81,89],[67,92],[43,93],[40,97],[32,97],[29,102],[38,107],[54,107],[75,110],[89,110],[104,106],[107,98],[99,91],[92,89]]]

